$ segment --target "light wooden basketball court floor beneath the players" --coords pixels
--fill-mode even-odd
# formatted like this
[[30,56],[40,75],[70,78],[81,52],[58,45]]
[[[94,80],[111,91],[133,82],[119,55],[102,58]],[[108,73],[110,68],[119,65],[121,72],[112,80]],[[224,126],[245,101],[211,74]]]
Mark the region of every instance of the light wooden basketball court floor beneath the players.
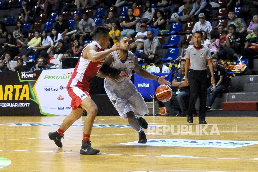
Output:
[[[171,142],[167,142],[171,146],[123,145],[121,143],[138,141],[138,134],[127,128],[127,120],[120,117],[96,117],[90,138],[93,148],[100,149],[100,153],[80,155],[84,117],[64,133],[62,148],[48,138],[48,132],[56,131],[64,118],[0,116],[0,157],[11,161],[0,172],[258,171],[257,143],[236,148],[174,146]],[[148,116],[145,119],[150,126],[156,126],[155,130],[149,130],[150,135],[145,129],[148,140],[197,140],[191,142],[194,144],[198,140],[200,144],[203,143],[200,140],[226,140],[233,145],[239,144],[237,141],[258,141],[257,117],[207,117],[209,125],[201,132],[196,129],[197,126],[200,130],[200,125],[196,125],[198,117],[194,117],[193,125],[186,122],[186,117]],[[177,125],[181,128],[179,133],[176,133]],[[216,133],[211,135],[214,130]]]

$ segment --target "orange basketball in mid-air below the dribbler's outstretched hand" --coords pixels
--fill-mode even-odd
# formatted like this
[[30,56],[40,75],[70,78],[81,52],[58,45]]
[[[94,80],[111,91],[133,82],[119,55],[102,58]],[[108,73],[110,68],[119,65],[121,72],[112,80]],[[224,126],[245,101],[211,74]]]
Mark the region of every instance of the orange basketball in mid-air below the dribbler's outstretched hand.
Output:
[[159,101],[169,101],[172,97],[172,89],[168,85],[160,85],[156,89],[156,97]]

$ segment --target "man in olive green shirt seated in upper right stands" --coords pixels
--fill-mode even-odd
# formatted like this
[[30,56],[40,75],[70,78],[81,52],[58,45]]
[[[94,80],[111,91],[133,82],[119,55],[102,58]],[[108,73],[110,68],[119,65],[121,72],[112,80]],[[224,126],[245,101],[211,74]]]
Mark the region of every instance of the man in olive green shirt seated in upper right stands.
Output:
[[[235,11],[228,11],[228,27],[230,24],[234,24],[236,26],[236,32],[244,33],[246,32],[246,23],[241,18],[236,18],[236,12]],[[227,29],[228,29],[227,27]],[[229,33],[229,31],[228,31]]]

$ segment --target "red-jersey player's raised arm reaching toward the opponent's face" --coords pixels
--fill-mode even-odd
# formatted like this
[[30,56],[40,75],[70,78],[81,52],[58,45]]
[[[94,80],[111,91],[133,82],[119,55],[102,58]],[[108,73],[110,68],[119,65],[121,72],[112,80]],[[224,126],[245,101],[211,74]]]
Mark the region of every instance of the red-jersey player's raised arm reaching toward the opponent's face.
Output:
[[94,45],[88,45],[83,52],[82,57],[85,59],[89,59],[92,62],[98,62],[104,59],[108,54],[116,51],[117,49],[120,49],[120,46],[115,44],[110,49],[97,52],[97,47],[95,47]]

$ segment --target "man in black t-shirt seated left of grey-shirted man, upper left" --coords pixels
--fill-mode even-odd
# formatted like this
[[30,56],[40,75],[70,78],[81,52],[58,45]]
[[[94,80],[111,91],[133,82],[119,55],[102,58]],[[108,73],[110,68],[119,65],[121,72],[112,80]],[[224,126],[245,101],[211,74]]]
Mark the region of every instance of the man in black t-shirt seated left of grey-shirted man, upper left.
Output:
[[66,42],[69,40],[69,37],[66,35],[66,33],[69,31],[70,25],[66,20],[64,20],[63,13],[58,14],[58,19],[59,22],[57,22],[54,27],[58,33],[61,33],[63,40]]

